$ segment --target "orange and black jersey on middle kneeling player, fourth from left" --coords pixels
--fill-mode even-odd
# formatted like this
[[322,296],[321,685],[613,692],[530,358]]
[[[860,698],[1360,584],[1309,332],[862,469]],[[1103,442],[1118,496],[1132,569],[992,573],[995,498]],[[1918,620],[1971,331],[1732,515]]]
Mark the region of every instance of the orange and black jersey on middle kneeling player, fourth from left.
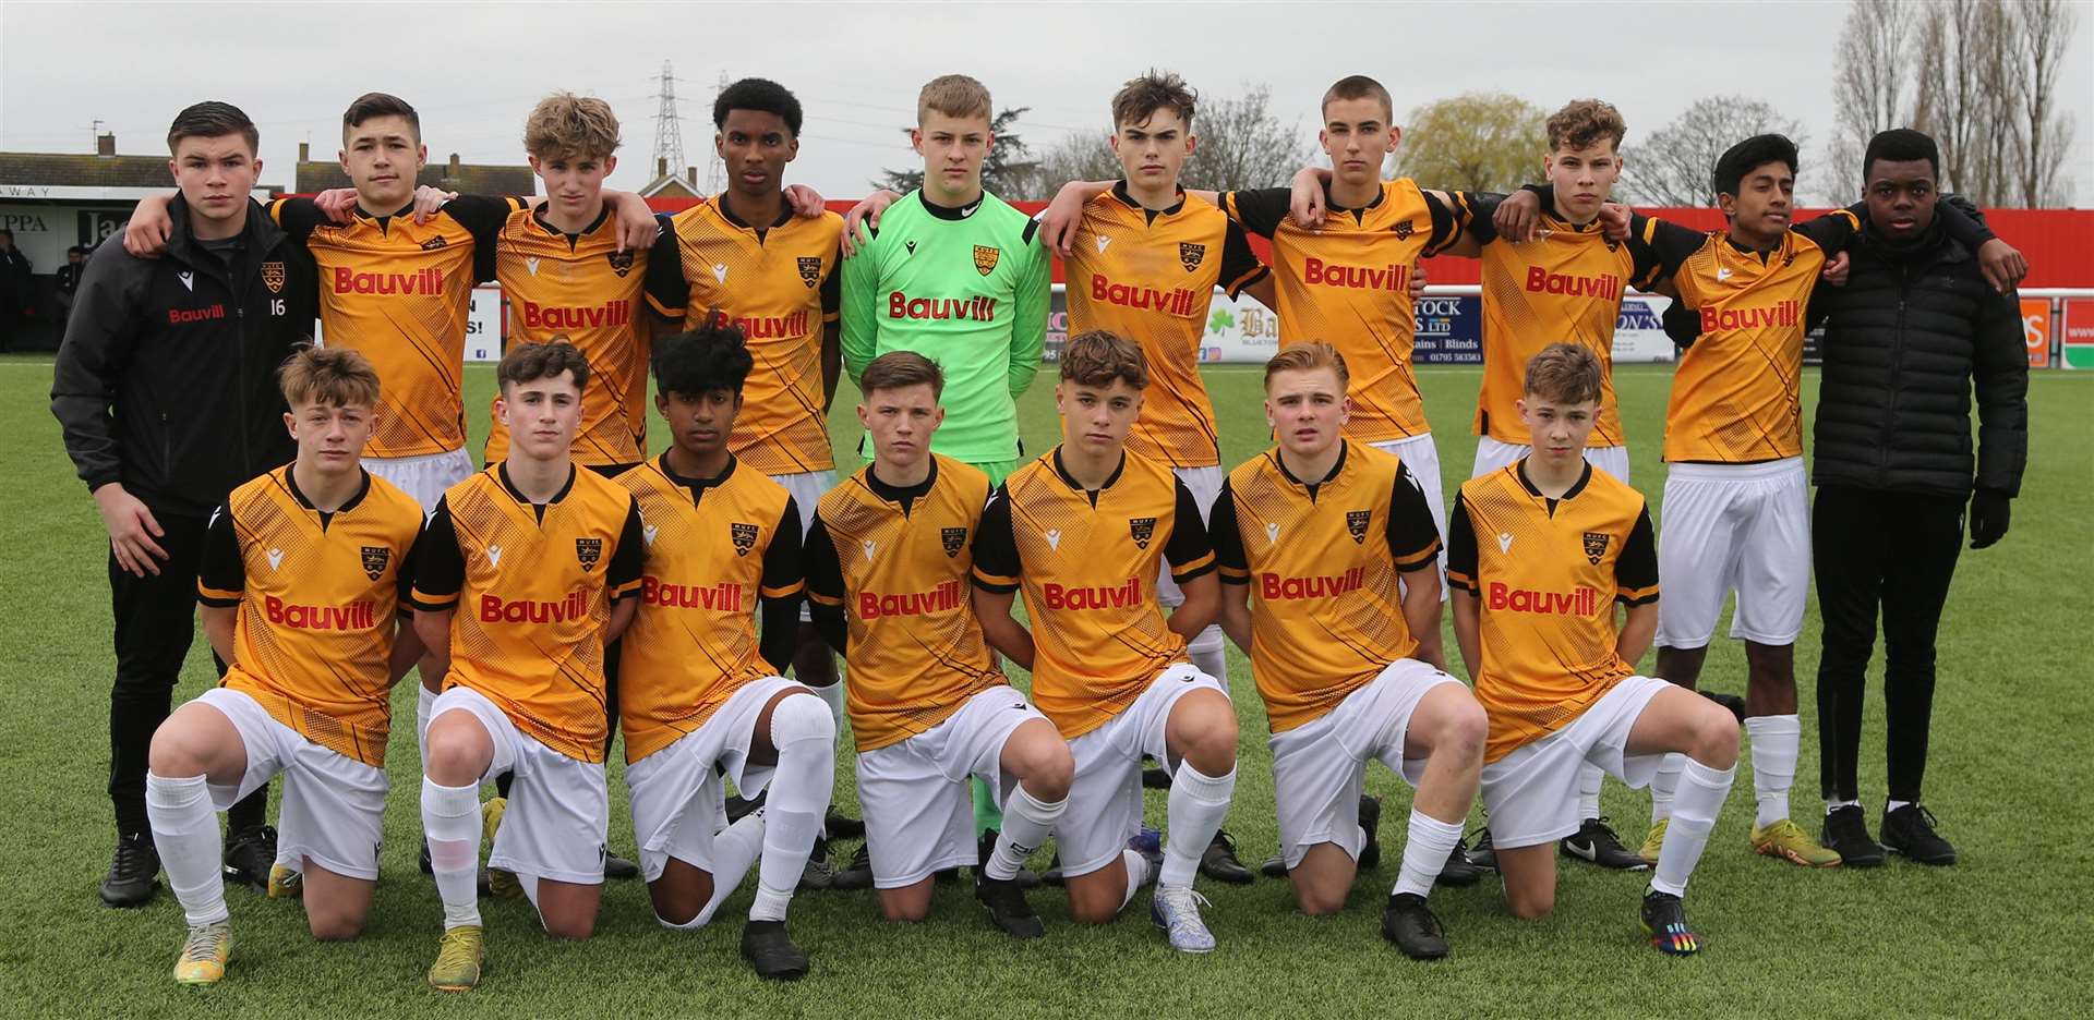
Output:
[[986,474],[932,454],[917,485],[888,485],[867,464],[815,510],[806,596],[815,625],[850,667],[861,755],[923,734],[974,694],[1009,683],[967,604],[986,500]]

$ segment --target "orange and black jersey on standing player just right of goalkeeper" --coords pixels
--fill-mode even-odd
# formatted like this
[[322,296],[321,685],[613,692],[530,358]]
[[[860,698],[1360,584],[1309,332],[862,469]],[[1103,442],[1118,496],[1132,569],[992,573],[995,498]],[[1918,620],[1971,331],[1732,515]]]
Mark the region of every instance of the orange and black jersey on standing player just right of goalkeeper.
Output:
[[1242,224],[1183,190],[1171,209],[1143,209],[1122,180],[1083,207],[1064,265],[1068,334],[1112,330],[1135,339],[1150,362],[1127,449],[1173,468],[1221,462],[1200,380],[1206,307],[1215,286],[1235,297],[1265,274]]

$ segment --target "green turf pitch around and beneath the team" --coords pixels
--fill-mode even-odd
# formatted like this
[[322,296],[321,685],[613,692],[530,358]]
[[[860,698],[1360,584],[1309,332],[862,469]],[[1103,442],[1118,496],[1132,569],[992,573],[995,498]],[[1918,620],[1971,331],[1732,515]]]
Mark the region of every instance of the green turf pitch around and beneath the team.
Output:
[[[1233,464],[1263,443],[1256,372],[1206,372]],[[1476,370],[1424,370],[1449,497],[1472,458]],[[484,433],[492,372],[469,372],[467,408]],[[1617,372],[1635,481],[1656,493],[1658,428],[1669,372]],[[1805,401],[1815,399],[1815,372]],[[810,893],[792,928],[815,959],[796,987],[760,987],[737,957],[735,895],[710,930],[664,932],[634,882],[609,886],[599,934],[547,941],[521,905],[490,903],[490,970],[469,999],[423,987],[440,926],[433,884],[415,870],[413,690],[402,686],[392,746],[385,878],[369,932],[316,945],[295,905],[230,893],[237,955],[209,991],[168,980],[182,920],[165,893],[147,909],[111,911],[94,897],[109,861],[105,706],[111,675],[105,539],[73,481],[46,412],[50,362],[0,360],[0,535],[10,627],[0,631],[0,995],[15,1016],[2060,1016],[2084,1007],[2090,978],[2084,907],[2090,870],[2086,759],[2090,677],[2088,527],[2094,523],[2094,378],[2037,372],[2031,451],[2014,531],[1962,558],[1941,627],[1929,805],[1962,863],[1926,870],[1893,859],[1874,872],[1803,872],[1746,847],[1751,771],[1717,824],[1688,899],[1707,951],[1667,959],[1644,945],[1644,880],[1562,865],[1558,911],[1514,922],[1493,884],[1434,895],[1453,959],[1405,961],[1376,934],[1395,880],[1407,794],[1376,767],[1390,851],[1336,918],[1294,911],[1286,882],[1200,888],[1221,949],[1177,957],[1145,918],[1148,897],[1118,924],[1076,928],[1060,893],[1034,897],[1049,936],[1013,945],[990,934],[963,886],[942,886],[930,922],[877,920],[869,893]],[[1022,403],[1030,449],[1053,441],[1051,366]],[[1809,414],[1805,410],[1805,414]],[[838,439],[856,441],[848,393]],[[662,433],[655,433],[660,445]],[[477,449],[477,439],[475,439]],[[1449,648],[1453,642],[1449,640]],[[1229,830],[1256,863],[1275,847],[1265,709],[1231,650],[1244,755]],[[1818,621],[1805,623],[1799,671],[1815,675]],[[1740,690],[1744,656],[1719,642],[1705,683]],[[1880,656],[1876,677],[1880,679]],[[1872,679],[1872,683],[1874,683]],[[199,640],[176,692],[205,690]],[[1872,692],[1874,694],[1874,692]],[[1880,700],[1870,698],[1862,790],[1883,798]],[[1818,742],[1811,681],[1803,694],[1797,815],[1815,830]],[[630,853],[622,784],[611,780],[611,847]],[[838,801],[856,811],[840,769]],[[1610,784],[1606,811],[1631,844],[1648,801]],[[1162,796],[1150,794],[1152,824]],[[1872,821],[1874,826],[1874,821]],[[846,847],[842,853],[848,853]],[[2081,903],[2081,907],[2073,907]],[[2075,991],[2079,989],[2079,991]],[[2081,1005],[2073,1005],[2081,1003]]]

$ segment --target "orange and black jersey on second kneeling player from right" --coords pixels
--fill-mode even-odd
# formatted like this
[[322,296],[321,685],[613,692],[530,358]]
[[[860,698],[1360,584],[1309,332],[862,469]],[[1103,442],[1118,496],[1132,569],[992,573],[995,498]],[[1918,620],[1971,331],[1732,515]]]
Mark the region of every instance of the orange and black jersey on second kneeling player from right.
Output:
[[1397,577],[1439,566],[1441,539],[1395,454],[1346,439],[1330,474],[1302,481],[1267,449],[1229,472],[1208,535],[1221,581],[1250,585],[1250,671],[1275,734],[1418,650]]

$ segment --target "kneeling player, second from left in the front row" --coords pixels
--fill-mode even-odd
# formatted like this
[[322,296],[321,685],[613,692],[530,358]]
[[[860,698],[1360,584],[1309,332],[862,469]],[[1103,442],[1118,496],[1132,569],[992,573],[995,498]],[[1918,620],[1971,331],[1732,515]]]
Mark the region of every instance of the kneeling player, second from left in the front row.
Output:
[[[511,347],[494,370],[509,460],[452,485],[415,556],[415,631],[444,660],[429,709],[421,828],[444,901],[429,984],[467,991],[484,959],[473,872],[480,782],[513,771],[490,815],[490,870],[517,876],[557,938],[588,938],[603,893],[603,646],[632,621],[641,512],[570,458],[588,360]],[[463,612],[456,612],[459,606]]]

